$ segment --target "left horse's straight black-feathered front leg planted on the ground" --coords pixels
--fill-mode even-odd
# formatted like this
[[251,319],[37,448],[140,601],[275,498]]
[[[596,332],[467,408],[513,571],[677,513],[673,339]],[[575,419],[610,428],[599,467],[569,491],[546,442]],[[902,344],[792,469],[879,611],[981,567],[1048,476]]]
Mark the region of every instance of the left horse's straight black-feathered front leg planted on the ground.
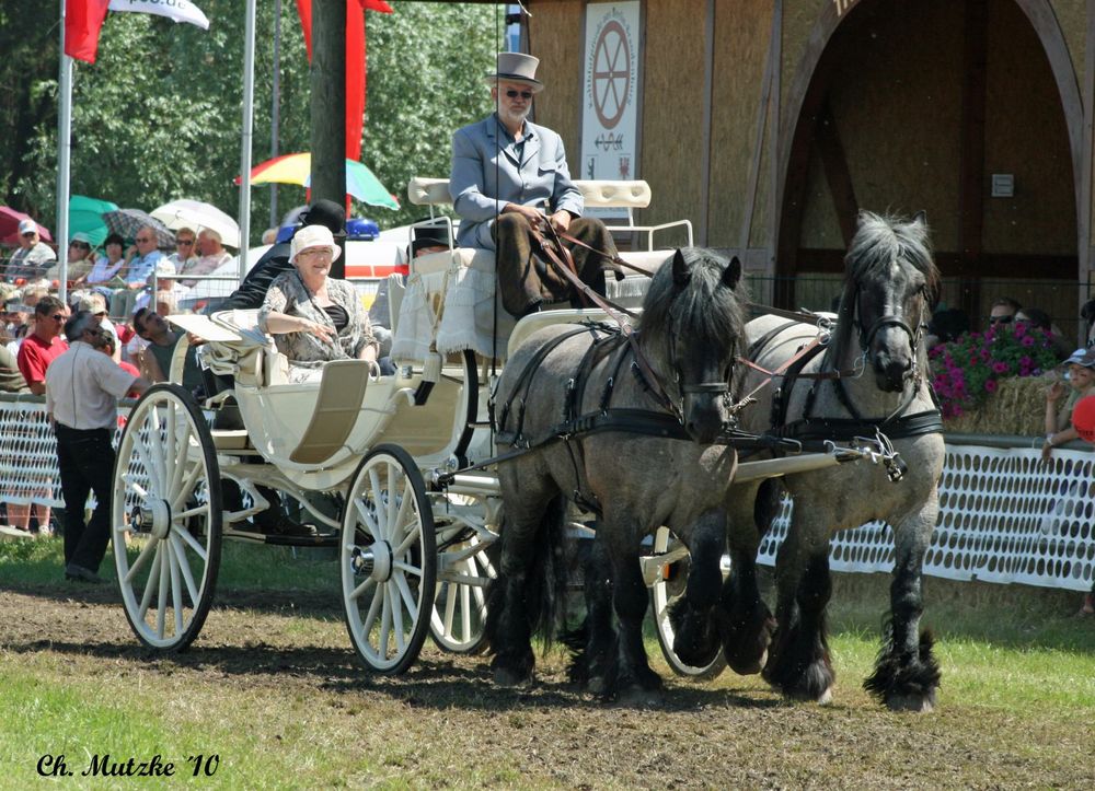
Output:
[[604,678],[604,697],[645,702],[649,694],[661,690],[661,678],[650,670],[643,644],[647,590],[638,562],[639,537],[630,519],[613,519],[608,510],[598,533],[612,568],[612,606],[620,624]]

